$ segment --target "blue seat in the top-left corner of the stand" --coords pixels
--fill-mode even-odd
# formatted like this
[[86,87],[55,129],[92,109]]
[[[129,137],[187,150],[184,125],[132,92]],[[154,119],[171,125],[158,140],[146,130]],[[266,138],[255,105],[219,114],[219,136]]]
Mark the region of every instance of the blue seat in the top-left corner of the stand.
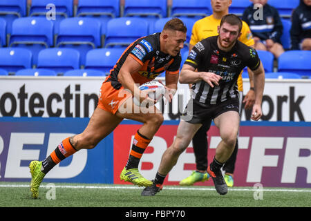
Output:
[[27,15],[27,0],[1,0],[0,17],[6,19],[6,32],[11,33],[12,22]]

